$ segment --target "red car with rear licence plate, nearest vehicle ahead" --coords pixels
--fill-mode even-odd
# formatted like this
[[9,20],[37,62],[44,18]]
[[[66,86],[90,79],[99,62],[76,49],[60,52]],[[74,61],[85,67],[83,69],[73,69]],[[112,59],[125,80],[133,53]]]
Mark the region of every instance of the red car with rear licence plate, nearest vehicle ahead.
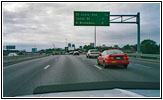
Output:
[[129,59],[121,50],[105,50],[98,58],[98,65],[103,65],[104,68],[112,65],[123,65],[127,68]]

